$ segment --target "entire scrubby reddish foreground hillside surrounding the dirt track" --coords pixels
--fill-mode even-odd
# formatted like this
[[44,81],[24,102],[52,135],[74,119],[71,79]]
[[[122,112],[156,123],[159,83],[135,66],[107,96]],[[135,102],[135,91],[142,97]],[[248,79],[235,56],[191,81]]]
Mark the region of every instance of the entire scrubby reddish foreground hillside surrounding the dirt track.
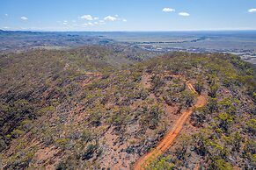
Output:
[[[191,110],[143,169],[253,169],[255,67],[231,54],[153,55],[119,46],[2,55],[0,168],[133,169]],[[198,96],[206,103],[195,107]]]

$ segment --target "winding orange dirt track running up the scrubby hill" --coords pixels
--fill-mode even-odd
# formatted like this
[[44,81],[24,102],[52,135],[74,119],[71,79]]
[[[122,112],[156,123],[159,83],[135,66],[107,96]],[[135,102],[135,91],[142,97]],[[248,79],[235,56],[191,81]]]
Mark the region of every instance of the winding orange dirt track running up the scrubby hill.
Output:
[[[196,93],[193,85],[189,81],[187,81],[187,88]],[[205,96],[197,96],[197,101],[194,106],[182,113],[172,130],[165,135],[165,138],[160,141],[156,148],[145,154],[141,159],[137,160],[134,169],[143,170],[143,167],[148,166],[152,160],[156,159],[158,156],[166,152],[168,148],[173,144],[175,138],[177,138],[177,136],[179,135],[179,132],[181,131],[183,125],[185,124],[193,110],[204,106],[206,103],[207,100]]]

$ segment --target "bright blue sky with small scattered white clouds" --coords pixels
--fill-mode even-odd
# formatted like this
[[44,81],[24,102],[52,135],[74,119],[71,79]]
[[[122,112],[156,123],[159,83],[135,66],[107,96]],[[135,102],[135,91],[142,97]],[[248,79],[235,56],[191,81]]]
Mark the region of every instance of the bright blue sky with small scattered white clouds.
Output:
[[0,29],[256,30],[256,0],[1,0]]

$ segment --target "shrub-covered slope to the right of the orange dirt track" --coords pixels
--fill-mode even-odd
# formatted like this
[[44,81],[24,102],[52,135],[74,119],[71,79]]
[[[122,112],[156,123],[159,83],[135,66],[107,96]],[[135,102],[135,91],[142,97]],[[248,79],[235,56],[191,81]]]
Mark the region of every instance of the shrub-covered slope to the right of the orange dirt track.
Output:
[[[255,67],[233,55],[179,55],[183,57],[163,65],[173,68],[182,60],[183,65],[174,67],[175,71],[185,68],[189,77],[196,75],[195,89],[208,94],[208,103],[193,111],[172,147],[143,168],[253,169]],[[191,72],[191,67],[196,69]]]

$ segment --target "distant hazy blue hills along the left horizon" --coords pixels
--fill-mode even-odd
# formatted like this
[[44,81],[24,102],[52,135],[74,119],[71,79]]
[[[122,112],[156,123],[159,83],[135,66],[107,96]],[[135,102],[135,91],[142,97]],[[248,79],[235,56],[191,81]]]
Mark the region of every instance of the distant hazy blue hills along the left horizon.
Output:
[[104,45],[111,39],[100,39],[76,32],[0,31],[0,52],[26,51],[34,48],[66,48],[84,45]]

